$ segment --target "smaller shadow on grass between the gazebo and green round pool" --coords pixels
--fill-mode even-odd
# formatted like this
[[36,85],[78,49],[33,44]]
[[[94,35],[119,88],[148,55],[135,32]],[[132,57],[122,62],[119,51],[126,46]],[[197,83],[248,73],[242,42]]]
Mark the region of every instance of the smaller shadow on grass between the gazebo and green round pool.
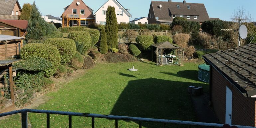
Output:
[[174,73],[171,73],[171,72],[161,72],[161,73],[176,76],[176,77],[182,77],[182,78],[186,78],[186,79],[190,79],[190,80],[199,81],[198,78],[197,78],[198,77],[198,71],[196,71],[196,70],[179,71],[179,72],[177,72],[177,74],[174,74]]

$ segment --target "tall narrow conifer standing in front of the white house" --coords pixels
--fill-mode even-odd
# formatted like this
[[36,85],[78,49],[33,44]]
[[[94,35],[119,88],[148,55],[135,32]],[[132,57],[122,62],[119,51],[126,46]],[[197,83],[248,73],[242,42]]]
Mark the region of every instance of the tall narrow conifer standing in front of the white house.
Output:
[[108,49],[118,47],[118,24],[115,7],[108,6],[105,26]]

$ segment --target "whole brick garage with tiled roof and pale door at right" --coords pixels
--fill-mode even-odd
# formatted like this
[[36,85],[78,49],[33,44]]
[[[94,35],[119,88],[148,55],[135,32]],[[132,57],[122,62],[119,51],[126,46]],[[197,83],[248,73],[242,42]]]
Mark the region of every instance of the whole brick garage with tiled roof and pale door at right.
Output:
[[256,126],[256,44],[203,58],[210,64],[210,102],[219,122]]

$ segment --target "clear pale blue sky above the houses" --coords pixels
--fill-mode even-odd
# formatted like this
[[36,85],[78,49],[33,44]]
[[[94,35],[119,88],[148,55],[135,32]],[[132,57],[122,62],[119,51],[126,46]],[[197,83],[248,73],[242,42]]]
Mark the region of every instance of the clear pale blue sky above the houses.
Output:
[[[33,3],[34,0],[19,0],[20,5],[24,3]],[[35,0],[36,5],[42,15],[61,16],[64,7],[69,5],[73,0]],[[87,6],[97,11],[107,0],[83,0]],[[155,0],[168,1],[168,0]],[[182,2],[183,0],[173,0]],[[139,17],[147,17],[151,0],[118,0],[126,9],[130,9],[133,16],[131,20]],[[256,0],[187,0],[189,3],[203,3],[206,7],[209,17],[220,18],[221,20],[230,21],[231,15],[237,7],[246,8],[252,15],[253,21],[256,21]]]

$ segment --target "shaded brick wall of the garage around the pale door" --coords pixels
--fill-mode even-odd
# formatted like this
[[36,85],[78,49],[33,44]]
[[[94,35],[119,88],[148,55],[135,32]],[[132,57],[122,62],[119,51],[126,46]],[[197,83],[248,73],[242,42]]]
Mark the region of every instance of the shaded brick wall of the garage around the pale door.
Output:
[[243,96],[216,69],[212,68],[212,106],[219,122],[225,123],[226,86],[232,91],[232,125],[256,126],[255,98]]

